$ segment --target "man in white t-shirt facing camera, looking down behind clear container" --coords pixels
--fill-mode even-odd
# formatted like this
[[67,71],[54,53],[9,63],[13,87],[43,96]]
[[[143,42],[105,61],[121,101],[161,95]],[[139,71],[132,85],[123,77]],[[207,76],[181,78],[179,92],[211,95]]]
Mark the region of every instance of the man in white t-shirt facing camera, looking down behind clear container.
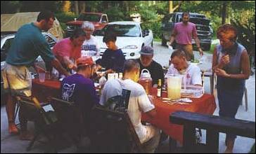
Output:
[[185,52],[180,49],[174,50],[174,52],[172,52],[171,65],[165,74],[165,78],[177,74],[184,75],[186,85],[202,86],[200,68],[196,66],[196,64],[189,64],[186,60]]

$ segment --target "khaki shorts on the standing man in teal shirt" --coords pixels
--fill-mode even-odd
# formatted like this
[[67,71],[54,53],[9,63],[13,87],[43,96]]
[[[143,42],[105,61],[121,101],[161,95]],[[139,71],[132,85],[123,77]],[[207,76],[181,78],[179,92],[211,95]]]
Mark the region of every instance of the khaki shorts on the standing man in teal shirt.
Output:
[[1,75],[4,81],[4,90],[11,92],[13,96],[19,94],[31,96],[32,79],[27,66],[13,66],[6,63]]

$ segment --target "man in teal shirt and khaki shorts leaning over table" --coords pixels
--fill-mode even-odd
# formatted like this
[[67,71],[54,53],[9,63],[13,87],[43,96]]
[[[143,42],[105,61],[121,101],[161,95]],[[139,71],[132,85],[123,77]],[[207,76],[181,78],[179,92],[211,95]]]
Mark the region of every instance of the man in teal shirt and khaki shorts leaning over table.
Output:
[[[18,129],[14,123],[15,99],[19,94],[32,97],[32,78],[28,66],[33,66],[35,59],[40,55],[45,63],[51,64],[58,71],[70,75],[65,71],[60,62],[54,57],[46,38],[41,30],[48,31],[53,27],[54,14],[45,10],[37,16],[37,22],[23,25],[18,29],[6,57],[6,66],[1,72],[4,80],[4,89],[8,90],[6,113],[8,116],[8,132],[17,134]],[[39,71],[38,66],[34,68]],[[43,71],[43,70],[41,70]],[[35,97],[32,97],[35,100]],[[35,102],[38,102],[37,100]],[[20,139],[32,139],[27,133],[27,120],[25,113],[19,113],[20,118]]]

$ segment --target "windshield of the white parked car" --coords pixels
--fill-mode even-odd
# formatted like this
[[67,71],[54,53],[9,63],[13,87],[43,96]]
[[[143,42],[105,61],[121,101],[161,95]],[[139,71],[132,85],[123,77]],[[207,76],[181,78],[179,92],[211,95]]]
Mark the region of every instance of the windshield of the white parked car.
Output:
[[107,25],[101,31],[97,31],[95,35],[103,36],[105,31],[115,31],[117,36],[124,37],[138,37],[141,35],[137,25]]

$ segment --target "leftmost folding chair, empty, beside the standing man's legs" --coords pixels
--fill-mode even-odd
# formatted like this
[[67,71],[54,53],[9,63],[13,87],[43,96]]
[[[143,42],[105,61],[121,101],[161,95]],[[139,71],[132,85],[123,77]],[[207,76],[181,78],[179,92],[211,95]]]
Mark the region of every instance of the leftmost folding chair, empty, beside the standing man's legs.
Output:
[[20,112],[26,112],[27,120],[33,121],[36,128],[36,133],[32,141],[30,141],[27,151],[31,150],[34,141],[36,141],[40,134],[44,134],[47,139],[49,139],[49,146],[53,146],[50,148],[56,151],[54,139],[56,139],[56,123],[58,119],[55,113],[53,111],[44,111],[41,106],[38,106],[38,104],[33,102],[33,99],[29,97],[19,97],[18,101],[20,103]]

